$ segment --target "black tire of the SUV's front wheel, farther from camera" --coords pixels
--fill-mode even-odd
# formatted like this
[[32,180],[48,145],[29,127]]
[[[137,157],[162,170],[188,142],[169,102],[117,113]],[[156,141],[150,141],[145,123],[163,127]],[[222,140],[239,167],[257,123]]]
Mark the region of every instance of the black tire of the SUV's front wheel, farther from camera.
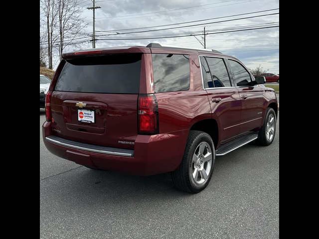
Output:
[[[273,117],[273,120],[274,120],[274,129],[273,129],[274,132],[271,138],[269,138],[270,134],[268,134],[269,126],[267,127],[269,123],[269,119],[270,119],[269,117]],[[277,122],[277,119],[276,119],[275,111],[272,108],[267,108],[264,124],[258,132],[257,141],[260,145],[268,146],[274,141],[275,133],[276,133],[276,122]]]

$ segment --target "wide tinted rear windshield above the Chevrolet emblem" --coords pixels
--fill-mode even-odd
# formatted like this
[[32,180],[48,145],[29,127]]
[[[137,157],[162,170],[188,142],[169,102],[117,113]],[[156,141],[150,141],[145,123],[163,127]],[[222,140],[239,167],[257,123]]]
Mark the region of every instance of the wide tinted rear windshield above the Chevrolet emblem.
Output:
[[138,94],[141,54],[67,60],[56,91]]

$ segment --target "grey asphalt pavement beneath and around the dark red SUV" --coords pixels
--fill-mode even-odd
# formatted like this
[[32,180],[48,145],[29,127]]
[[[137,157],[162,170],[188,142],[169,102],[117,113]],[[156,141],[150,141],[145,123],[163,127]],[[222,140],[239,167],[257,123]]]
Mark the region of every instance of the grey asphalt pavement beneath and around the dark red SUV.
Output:
[[[278,239],[279,118],[274,142],[217,157],[208,187],[177,190],[169,173],[98,171],[45,148],[40,110],[40,239]],[[164,150],[164,149],[163,149]]]

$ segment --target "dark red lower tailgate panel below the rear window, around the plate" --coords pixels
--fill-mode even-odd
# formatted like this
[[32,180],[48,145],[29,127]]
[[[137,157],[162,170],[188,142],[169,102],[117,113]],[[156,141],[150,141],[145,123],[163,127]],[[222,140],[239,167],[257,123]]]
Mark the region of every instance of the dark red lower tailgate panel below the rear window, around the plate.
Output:
[[[94,94],[53,91],[51,97],[53,135],[110,147],[119,147],[119,140],[134,142],[138,135],[138,96],[134,94]],[[78,120],[76,103],[87,104],[83,109],[95,111],[96,123]],[[134,149],[133,144],[123,148]]]

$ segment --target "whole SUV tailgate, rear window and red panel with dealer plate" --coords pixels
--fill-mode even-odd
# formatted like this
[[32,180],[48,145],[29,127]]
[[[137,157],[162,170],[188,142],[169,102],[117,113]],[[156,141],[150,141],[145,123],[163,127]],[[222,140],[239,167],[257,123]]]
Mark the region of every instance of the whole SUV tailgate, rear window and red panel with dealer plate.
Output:
[[142,54],[132,53],[66,60],[51,97],[52,132],[91,144],[134,148],[141,59]]

